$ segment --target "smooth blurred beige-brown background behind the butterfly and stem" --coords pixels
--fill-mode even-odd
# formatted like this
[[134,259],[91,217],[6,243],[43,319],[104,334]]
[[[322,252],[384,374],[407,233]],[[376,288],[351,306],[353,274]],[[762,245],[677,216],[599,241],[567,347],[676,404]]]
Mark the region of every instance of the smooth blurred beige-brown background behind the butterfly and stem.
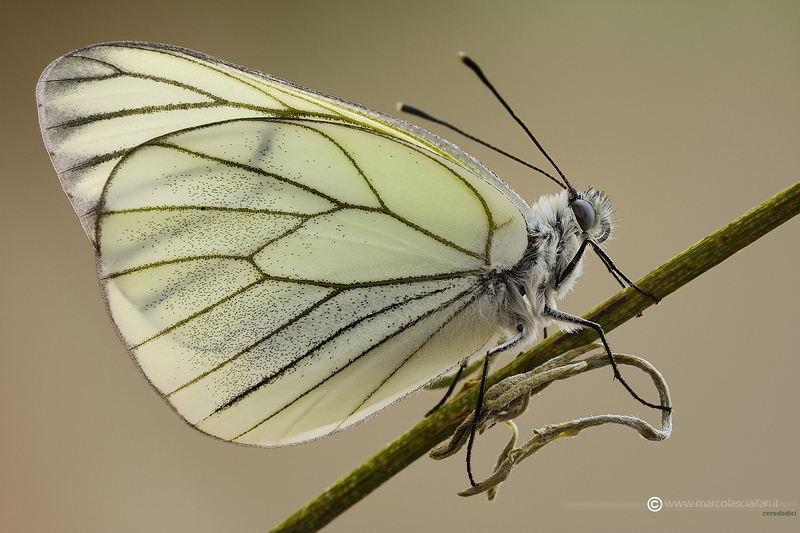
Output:
[[[794,1],[46,0],[6,6],[3,18],[4,531],[265,531],[439,398],[419,393],[356,428],[282,449],[215,441],[181,422],[118,342],[92,249],[41,143],[36,80],[72,49],[181,45],[389,113],[404,100],[541,161],[456,60],[467,51],[572,181],[611,195],[620,227],[607,249],[634,279],[800,175]],[[555,192],[446,136],[529,202]],[[668,441],[619,427],[563,439],[515,471],[494,503],[455,495],[467,484],[463,454],[422,459],[328,530],[796,531],[797,517],[758,509],[652,513],[645,502],[779,500],[797,511],[799,230],[790,221],[610,334],[615,350],[667,378],[676,406]],[[616,289],[590,258],[562,308],[582,314]],[[522,424],[527,434],[604,412],[654,420],[600,372],[551,387]],[[504,438],[498,428],[478,441],[479,475]]]

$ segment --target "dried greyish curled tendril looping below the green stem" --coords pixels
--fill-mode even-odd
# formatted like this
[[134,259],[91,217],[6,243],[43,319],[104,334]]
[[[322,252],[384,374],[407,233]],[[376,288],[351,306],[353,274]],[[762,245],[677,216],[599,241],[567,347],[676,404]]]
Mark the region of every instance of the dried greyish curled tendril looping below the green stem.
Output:
[[[583,359],[572,362],[585,355]],[[631,365],[650,375],[658,391],[661,405],[672,407],[669,388],[663,376],[653,365],[632,355],[614,354],[618,364]],[[497,465],[491,476],[470,487],[459,496],[474,496],[488,492],[490,500],[494,499],[497,488],[511,475],[511,471],[522,461],[539,451],[545,445],[560,437],[575,437],[584,429],[602,426],[604,424],[619,424],[636,430],[639,435],[647,440],[661,441],[669,438],[672,433],[672,412],[662,411],[661,429],[656,429],[644,420],[627,415],[598,415],[578,418],[561,424],[548,425],[533,431],[534,436],[522,446],[516,448],[517,429],[511,420],[520,416],[528,408],[532,394],[536,394],[554,381],[566,379],[589,370],[604,367],[610,364],[608,356],[602,346],[590,344],[571,350],[547,363],[526,372],[508,377],[495,384],[486,391],[484,399],[484,412],[477,422],[477,430],[483,433],[486,429],[501,422],[506,422],[512,430],[512,437],[498,458]],[[433,459],[444,459],[457,453],[469,440],[470,427],[474,423],[474,412],[461,423],[448,442],[442,443],[430,452]]]

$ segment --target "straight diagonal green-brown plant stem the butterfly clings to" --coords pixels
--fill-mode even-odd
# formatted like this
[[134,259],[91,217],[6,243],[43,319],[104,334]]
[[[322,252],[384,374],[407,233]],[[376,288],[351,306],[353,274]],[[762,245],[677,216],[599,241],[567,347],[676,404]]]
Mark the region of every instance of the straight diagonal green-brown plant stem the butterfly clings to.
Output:
[[[776,194],[735,221],[637,281],[644,290],[663,299],[699,275],[766,235],[800,212],[800,183]],[[654,302],[626,289],[597,306],[584,318],[598,322],[608,332],[637,316]],[[591,330],[556,334],[488,378],[491,386],[501,379],[527,372],[542,363],[596,340]],[[375,456],[347,474],[317,498],[299,509],[272,531],[317,531],[378,488],[435,445],[448,438],[474,409],[477,387],[459,395],[430,417],[411,428]]]

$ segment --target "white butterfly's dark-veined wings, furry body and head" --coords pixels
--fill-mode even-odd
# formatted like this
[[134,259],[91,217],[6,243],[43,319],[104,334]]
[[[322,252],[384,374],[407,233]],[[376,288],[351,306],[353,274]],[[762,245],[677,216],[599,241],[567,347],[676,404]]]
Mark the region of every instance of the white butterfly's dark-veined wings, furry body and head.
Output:
[[120,338],[225,440],[322,437],[575,324],[556,300],[612,229],[591,187],[529,207],[421,128],[182,48],[76,50],[37,100]]

